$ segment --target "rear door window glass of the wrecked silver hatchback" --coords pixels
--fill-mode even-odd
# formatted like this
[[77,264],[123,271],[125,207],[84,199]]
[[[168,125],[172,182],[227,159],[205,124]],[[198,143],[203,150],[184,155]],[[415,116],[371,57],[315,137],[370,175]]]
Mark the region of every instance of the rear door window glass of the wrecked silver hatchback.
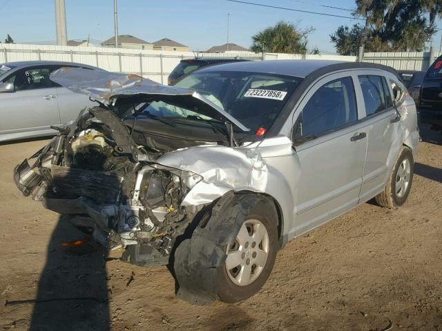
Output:
[[370,116],[392,106],[392,97],[382,76],[358,76],[364,97],[365,114]]

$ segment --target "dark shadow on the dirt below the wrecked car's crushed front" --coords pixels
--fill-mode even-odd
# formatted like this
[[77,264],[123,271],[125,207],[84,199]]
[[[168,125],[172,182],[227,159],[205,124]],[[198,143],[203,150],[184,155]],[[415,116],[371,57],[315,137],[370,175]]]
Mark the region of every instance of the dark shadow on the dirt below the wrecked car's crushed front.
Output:
[[[79,239],[85,242],[75,245]],[[60,217],[48,245],[30,330],[109,330],[109,316],[106,252]]]

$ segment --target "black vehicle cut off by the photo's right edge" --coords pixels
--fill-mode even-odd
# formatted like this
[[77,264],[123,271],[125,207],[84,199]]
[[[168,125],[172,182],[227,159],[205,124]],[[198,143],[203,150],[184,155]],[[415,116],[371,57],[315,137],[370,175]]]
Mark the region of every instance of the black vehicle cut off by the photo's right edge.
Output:
[[423,78],[419,97],[419,119],[433,130],[442,131],[442,56],[436,59]]

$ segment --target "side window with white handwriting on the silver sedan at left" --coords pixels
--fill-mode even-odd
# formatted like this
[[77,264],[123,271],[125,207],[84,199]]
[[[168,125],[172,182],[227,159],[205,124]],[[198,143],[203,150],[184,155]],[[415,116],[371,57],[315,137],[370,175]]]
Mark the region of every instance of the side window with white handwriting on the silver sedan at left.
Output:
[[51,71],[50,68],[26,68],[17,71],[7,82],[14,83],[16,91],[50,88],[53,84],[49,80]]

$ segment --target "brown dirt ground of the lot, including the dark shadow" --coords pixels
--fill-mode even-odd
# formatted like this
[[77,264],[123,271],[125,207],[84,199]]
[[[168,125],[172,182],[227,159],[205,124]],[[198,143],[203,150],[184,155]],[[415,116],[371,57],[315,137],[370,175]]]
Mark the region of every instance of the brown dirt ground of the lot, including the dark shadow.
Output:
[[402,208],[365,203],[278,253],[251,299],[190,305],[165,268],[129,265],[22,197],[12,168],[47,142],[0,145],[0,328],[442,330],[442,137],[425,135]]

